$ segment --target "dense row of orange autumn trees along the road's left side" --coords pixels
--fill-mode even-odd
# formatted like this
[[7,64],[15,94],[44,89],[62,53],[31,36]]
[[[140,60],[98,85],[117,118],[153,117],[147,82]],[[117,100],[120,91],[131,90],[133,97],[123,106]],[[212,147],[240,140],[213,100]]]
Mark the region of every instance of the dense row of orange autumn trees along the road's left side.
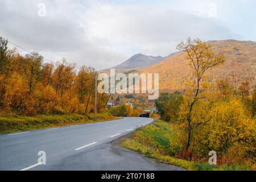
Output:
[[[94,68],[76,68],[65,59],[44,63],[37,52],[25,56],[0,38],[0,114],[88,113],[94,109]],[[106,94],[97,94],[97,111]]]

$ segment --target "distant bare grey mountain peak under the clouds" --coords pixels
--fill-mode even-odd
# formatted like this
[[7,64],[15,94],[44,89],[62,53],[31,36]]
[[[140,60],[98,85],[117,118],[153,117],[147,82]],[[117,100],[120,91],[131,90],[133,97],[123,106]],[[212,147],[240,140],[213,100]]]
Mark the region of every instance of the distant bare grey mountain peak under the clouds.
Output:
[[130,57],[130,59],[125,62],[113,67],[113,69],[131,69],[131,68],[140,68],[147,65],[158,63],[159,61],[164,60],[165,57],[162,56],[146,56],[141,53]]

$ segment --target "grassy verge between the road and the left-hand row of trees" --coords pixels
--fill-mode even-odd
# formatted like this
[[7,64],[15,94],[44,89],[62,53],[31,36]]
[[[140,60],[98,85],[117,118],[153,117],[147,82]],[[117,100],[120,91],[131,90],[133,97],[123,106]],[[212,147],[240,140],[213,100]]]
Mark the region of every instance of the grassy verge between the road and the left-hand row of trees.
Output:
[[[102,111],[97,114],[97,121],[110,121],[117,119],[110,113]],[[27,116],[0,116],[0,134],[14,133],[19,131],[29,131],[36,129],[46,129],[49,127],[69,126],[86,123],[94,123],[94,114],[61,114],[61,115],[36,115]]]

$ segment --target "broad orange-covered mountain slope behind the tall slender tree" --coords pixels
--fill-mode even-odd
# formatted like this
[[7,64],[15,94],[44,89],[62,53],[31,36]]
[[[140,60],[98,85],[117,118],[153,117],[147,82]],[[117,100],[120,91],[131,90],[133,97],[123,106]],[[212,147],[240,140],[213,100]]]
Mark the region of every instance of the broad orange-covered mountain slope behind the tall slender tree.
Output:
[[[209,41],[215,53],[223,52],[226,61],[223,65],[207,72],[212,86],[219,80],[226,80],[233,86],[242,81],[256,85],[256,42],[238,40]],[[192,75],[189,60],[185,52],[178,52],[166,60],[154,65],[136,69],[139,73],[159,73],[160,90],[184,90],[185,84]]]

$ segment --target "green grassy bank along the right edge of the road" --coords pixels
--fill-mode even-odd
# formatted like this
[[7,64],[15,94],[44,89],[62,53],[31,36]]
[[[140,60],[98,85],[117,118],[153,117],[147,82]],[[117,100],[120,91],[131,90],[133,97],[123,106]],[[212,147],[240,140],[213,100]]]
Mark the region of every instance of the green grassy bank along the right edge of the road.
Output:
[[167,122],[156,121],[142,127],[133,133],[133,137],[121,140],[121,146],[130,150],[137,151],[149,158],[158,159],[160,162],[183,167],[191,171],[242,171],[251,170],[251,168],[238,165],[215,166],[208,163],[197,163],[184,159],[175,158],[175,147],[179,147],[177,130]]

